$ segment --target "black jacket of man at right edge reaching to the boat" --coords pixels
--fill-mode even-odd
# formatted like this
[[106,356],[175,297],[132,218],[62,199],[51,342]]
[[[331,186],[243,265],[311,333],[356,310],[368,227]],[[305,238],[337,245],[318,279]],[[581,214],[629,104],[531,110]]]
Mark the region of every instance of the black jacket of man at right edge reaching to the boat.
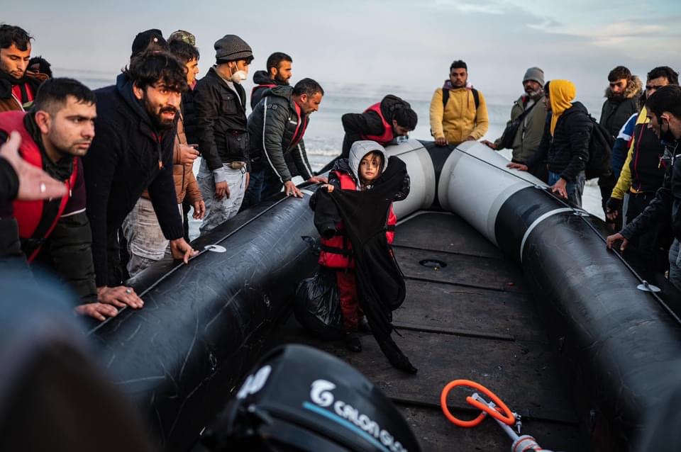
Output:
[[[662,186],[655,192],[655,198],[643,212],[624,227],[621,234],[626,239],[650,230],[658,222],[672,220],[672,232],[681,241],[681,145],[679,141],[665,149],[665,159],[670,162]],[[677,157],[679,156],[679,157]]]

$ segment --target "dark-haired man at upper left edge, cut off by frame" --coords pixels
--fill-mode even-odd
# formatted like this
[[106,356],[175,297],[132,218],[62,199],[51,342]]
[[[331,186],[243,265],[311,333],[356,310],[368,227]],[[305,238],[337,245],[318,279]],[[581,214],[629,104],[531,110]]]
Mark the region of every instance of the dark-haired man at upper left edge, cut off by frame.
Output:
[[31,35],[17,26],[0,25],[0,111],[31,107],[45,74],[26,70],[31,60]]

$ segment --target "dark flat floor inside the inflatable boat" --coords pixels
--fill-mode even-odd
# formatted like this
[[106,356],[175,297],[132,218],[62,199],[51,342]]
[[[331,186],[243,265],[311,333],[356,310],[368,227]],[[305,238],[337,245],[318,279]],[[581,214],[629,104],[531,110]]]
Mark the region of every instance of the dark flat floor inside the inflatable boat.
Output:
[[[397,344],[419,368],[390,366],[370,334],[359,354],[310,337],[293,317],[276,344],[297,342],[343,358],[370,378],[402,411],[423,451],[507,451],[511,441],[492,419],[474,429],[450,424],[439,406],[442,388],[465,378],[497,393],[522,416],[523,433],[553,451],[588,450],[580,434],[558,354],[551,350],[518,266],[451,213],[422,211],[399,223],[394,252],[406,277],[404,305],[394,312]],[[442,261],[433,269],[421,261]],[[477,415],[470,392],[448,404],[463,419]]]

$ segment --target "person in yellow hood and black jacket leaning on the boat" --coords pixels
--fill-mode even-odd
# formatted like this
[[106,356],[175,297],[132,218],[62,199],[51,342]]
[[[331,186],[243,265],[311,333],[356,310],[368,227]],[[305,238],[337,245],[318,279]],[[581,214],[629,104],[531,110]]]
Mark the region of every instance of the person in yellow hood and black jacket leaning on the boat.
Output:
[[548,183],[553,193],[582,207],[586,182],[585,167],[589,161],[589,140],[594,125],[587,108],[572,102],[577,93],[568,80],[548,81],[546,94],[546,127],[537,153],[526,165],[508,164],[509,168],[527,171],[546,160]]

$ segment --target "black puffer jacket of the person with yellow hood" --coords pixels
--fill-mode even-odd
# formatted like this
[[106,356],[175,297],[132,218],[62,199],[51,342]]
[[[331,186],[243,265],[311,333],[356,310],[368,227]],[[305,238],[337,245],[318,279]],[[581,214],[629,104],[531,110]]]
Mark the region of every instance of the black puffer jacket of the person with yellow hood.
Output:
[[567,182],[575,181],[577,174],[589,161],[589,140],[594,125],[587,108],[573,102],[558,118],[553,137],[550,132],[551,113],[546,115],[546,126],[537,153],[528,161],[530,168],[546,160],[548,171],[560,174]]

